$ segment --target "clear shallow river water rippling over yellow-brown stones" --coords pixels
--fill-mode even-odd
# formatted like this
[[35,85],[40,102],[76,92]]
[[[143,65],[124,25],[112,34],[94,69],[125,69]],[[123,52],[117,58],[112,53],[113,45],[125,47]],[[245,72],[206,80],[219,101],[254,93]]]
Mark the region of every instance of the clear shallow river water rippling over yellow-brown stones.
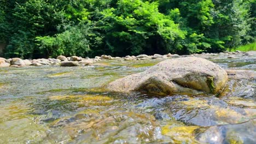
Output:
[[[206,58],[256,70],[255,57]],[[218,97],[104,89],[160,61],[1,68],[0,143],[255,143],[255,79],[230,79]]]

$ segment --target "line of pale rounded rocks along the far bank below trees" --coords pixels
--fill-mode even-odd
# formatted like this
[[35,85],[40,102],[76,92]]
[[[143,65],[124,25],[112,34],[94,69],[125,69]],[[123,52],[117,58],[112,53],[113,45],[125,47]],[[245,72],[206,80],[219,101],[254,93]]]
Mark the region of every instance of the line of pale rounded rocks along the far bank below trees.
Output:
[[40,59],[21,59],[21,58],[1,58],[0,57],[0,67],[24,67],[29,65],[41,66],[41,65],[60,65],[61,67],[74,67],[74,66],[85,66],[91,65],[95,62],[102,60],[111,60],[116,59],[117,61],[133,61],[133,60],[146,60],[146,59],[167,59],[167,58],[178,58],[178,57],[203,57],[203,58],[211,58],[210,56],[219,56],[226,55],[228,58],[235,58],[236,55],[240,56],[256,56],[256,51],[248,51],[248,52],[220,52],[220,53],[201,53],[201,54],[193,54],[193,55],[183,55],[179,56],[177,54],[172,55],[168,53],[167,55],[159,55],[155,54],[153,56],[148,55],[138,55],[138,56],[125,56],[125,57],[112,57],[108,55],[96,56],[95,58],[82,58],[78,56],[65,57],[58,56],[57,58],[40,58]]

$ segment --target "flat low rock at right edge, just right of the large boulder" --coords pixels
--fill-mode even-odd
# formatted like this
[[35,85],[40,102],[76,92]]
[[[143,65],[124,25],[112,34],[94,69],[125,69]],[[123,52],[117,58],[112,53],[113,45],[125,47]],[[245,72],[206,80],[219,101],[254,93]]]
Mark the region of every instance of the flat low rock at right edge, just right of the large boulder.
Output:
[[256,71],[254,70],[226,70],[228,76],[232,79],[256,79]]

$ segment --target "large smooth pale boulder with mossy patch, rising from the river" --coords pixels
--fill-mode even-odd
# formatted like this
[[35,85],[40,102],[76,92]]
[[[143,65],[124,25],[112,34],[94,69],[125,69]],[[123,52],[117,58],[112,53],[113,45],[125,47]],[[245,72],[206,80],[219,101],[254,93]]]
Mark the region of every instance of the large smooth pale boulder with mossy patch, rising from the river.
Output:
[[142,73],[107,85],[110,91],[159,94],[218,93],[228,81],[226,71],[203,58],[183,57],[160,62]]

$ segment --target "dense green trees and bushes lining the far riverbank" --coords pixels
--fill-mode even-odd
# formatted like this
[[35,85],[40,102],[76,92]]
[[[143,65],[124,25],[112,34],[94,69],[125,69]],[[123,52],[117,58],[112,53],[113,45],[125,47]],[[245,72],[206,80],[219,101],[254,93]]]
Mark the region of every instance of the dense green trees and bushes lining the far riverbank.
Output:
[[5,57],[220,52],[255,41],[256,0],[1,0]]

